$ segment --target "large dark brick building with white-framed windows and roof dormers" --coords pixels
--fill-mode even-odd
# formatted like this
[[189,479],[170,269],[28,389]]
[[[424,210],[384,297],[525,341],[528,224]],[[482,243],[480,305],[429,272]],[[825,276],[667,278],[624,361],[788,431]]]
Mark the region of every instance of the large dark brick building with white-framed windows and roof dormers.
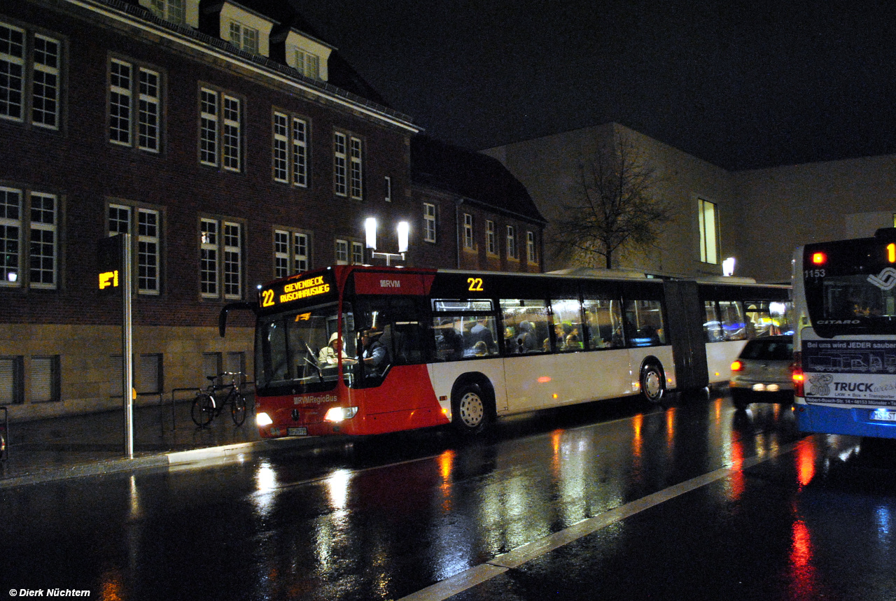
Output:
[[[0,5],[0,405],[13,419],[120,407],[120,301],[97,244],[129,233],[143,402],[252,371],[252,323],[220,307],[297,270],[373,262],[363,223],[424,244],[409,116],[287,3]],[[271,13],[271,14],[269,14]],[[492,160],[492,159],[488,159]],[[395,245],[390,228],[381,245]],[[420,249],[425,248],[426,252]],[[382,262],[382,261],[378,261]]]

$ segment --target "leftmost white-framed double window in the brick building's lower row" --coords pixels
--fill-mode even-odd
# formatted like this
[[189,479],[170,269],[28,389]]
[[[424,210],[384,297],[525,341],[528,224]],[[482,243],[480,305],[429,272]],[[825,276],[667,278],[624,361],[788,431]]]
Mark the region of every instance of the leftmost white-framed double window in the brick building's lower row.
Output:
[[58,224],[54,194],[0,187],[0,286],[56,288]]

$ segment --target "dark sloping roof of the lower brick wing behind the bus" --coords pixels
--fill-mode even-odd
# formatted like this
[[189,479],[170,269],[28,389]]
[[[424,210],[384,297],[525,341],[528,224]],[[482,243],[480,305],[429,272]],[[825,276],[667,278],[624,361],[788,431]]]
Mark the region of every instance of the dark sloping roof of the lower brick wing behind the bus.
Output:
[[419,134],[410,141],[410,177],[415,185],[457,194],[464,201],[547,223],[526,186],[497,159]]

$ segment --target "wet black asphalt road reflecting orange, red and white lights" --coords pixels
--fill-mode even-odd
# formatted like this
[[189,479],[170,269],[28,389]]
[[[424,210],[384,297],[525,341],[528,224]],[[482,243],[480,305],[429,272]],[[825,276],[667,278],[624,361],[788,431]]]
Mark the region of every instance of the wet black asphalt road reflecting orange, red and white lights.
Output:
[[894,599],[889,444],[632,399],[0,492],[0,599]]

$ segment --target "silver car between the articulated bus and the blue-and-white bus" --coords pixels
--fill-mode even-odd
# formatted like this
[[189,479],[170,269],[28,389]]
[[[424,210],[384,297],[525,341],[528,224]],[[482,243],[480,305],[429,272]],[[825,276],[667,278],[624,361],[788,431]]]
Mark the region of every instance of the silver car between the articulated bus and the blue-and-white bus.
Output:
[[793,336],[763,336],[747,342],[731,364],[728,386],[738,409],[750,403],[792,403]]

